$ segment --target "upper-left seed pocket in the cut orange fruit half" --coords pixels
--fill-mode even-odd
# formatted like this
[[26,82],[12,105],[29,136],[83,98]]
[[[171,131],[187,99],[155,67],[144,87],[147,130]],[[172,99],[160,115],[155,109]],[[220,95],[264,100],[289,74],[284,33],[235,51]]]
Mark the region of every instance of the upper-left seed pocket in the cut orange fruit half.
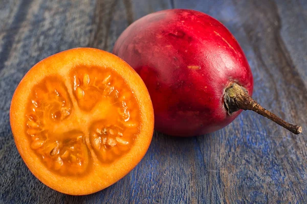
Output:
[[33,87],[30,101],[26,115],[27,134],[31,136],[31,147],[38,149],[49,138],[45,124],[67,118],[72,105],[63,83],[54,78]]

